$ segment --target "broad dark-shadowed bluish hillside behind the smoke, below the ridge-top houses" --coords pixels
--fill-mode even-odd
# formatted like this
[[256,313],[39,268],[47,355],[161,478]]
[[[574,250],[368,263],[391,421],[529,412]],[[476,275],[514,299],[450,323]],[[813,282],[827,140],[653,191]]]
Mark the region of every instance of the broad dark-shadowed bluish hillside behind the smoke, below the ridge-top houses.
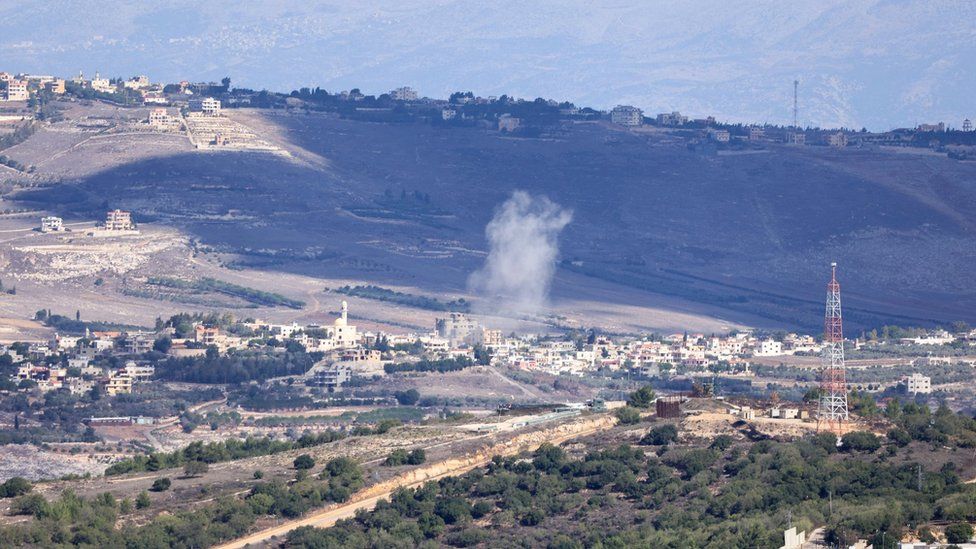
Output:
[[[202,153],[173,135],[140,134],[89,139],[46,160],[46,130],[9,154],[59,183],[17,198],[69,218],[132,209],[236,268],[454,295],[483,261],[493,209],[522,189],[574,212],[560,239],[559,314],[580,300],[623,309],[658,296],[663,309],[815,328],[827,265],[838,261],[852,327],[976,320],[972,163],[776,144],[704,156],[681,132],[602,123],[521,139],[230,116],[291,156]],[[645,320],[632,326],[662,325]]]

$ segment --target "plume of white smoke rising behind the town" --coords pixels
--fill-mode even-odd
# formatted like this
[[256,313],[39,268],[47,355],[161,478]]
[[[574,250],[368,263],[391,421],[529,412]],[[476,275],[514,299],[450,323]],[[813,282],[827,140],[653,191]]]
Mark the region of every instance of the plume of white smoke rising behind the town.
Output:
[[515,191],[485,228],[491,250],[468,279],[485,312],[536,314],[542,310],[559,255],[559,233],[573,218],[546,197]]

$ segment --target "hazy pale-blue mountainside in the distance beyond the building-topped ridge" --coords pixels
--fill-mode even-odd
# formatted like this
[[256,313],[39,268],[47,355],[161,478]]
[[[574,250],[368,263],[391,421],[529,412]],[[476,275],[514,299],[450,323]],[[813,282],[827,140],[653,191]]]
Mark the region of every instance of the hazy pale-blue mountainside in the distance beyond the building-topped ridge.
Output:
[[[526,7],[529,6],[529,7]],[[976,2],[6,0],[0,70],[401,85],[873,130],[976,117]]]

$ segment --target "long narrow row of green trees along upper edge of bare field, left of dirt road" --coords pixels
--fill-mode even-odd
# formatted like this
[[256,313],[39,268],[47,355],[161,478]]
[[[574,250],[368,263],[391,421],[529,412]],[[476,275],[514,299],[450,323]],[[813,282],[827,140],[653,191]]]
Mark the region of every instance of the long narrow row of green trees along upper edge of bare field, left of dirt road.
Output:
[[313,446],[328,444],[341,440],[344,437],[345,435],[342,433],[329,430],[319,434],[304,434],[294,442],[272,440],[268,437],[248,437],[244,440],[231,438],[223,442],[211,442],[208,444],[197,441],[175,452],[156,452],[146,456],[138,456],[119,461],[105,470],[105,476],[140,471],[159,471],[172,467],[185,466],[188,463],[194,462],[205,464],[220,463],[222,461],[233,461],[255,456],[268,456],[297,448],[311,448]]

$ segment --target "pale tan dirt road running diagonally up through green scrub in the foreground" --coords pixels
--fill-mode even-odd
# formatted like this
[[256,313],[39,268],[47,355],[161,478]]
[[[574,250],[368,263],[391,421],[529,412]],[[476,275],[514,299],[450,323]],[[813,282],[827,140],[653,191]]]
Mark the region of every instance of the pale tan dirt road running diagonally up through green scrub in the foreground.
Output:
[[348,503],[327,507],[308,517],[285,522],[272,528],[266,528],[260,532],[255,532],[232,542],[219,545],[217,549],[240,549],[247,545],[264,543],[272,538],[284,536],[288,532],[302,526],[329,528],[342,519],[354,516],[359,509],[372,509],[379,500],[389,497],[397,488],[413,488],[446,476],[463,474],[471,469],[485,465],[496,455],[512,455],[524,451],[532,451],[544,442],[562,444],[574,438],[592,435],[607,428],[614,422],[615,420],[609,416],[600,416],[598,418],[563,424],[535,433],[525,433],[510,441],[478,452],[473,456],[449,459],[421,469],[415,469],[395,479],[363,490],[359,493],[358,497]]

